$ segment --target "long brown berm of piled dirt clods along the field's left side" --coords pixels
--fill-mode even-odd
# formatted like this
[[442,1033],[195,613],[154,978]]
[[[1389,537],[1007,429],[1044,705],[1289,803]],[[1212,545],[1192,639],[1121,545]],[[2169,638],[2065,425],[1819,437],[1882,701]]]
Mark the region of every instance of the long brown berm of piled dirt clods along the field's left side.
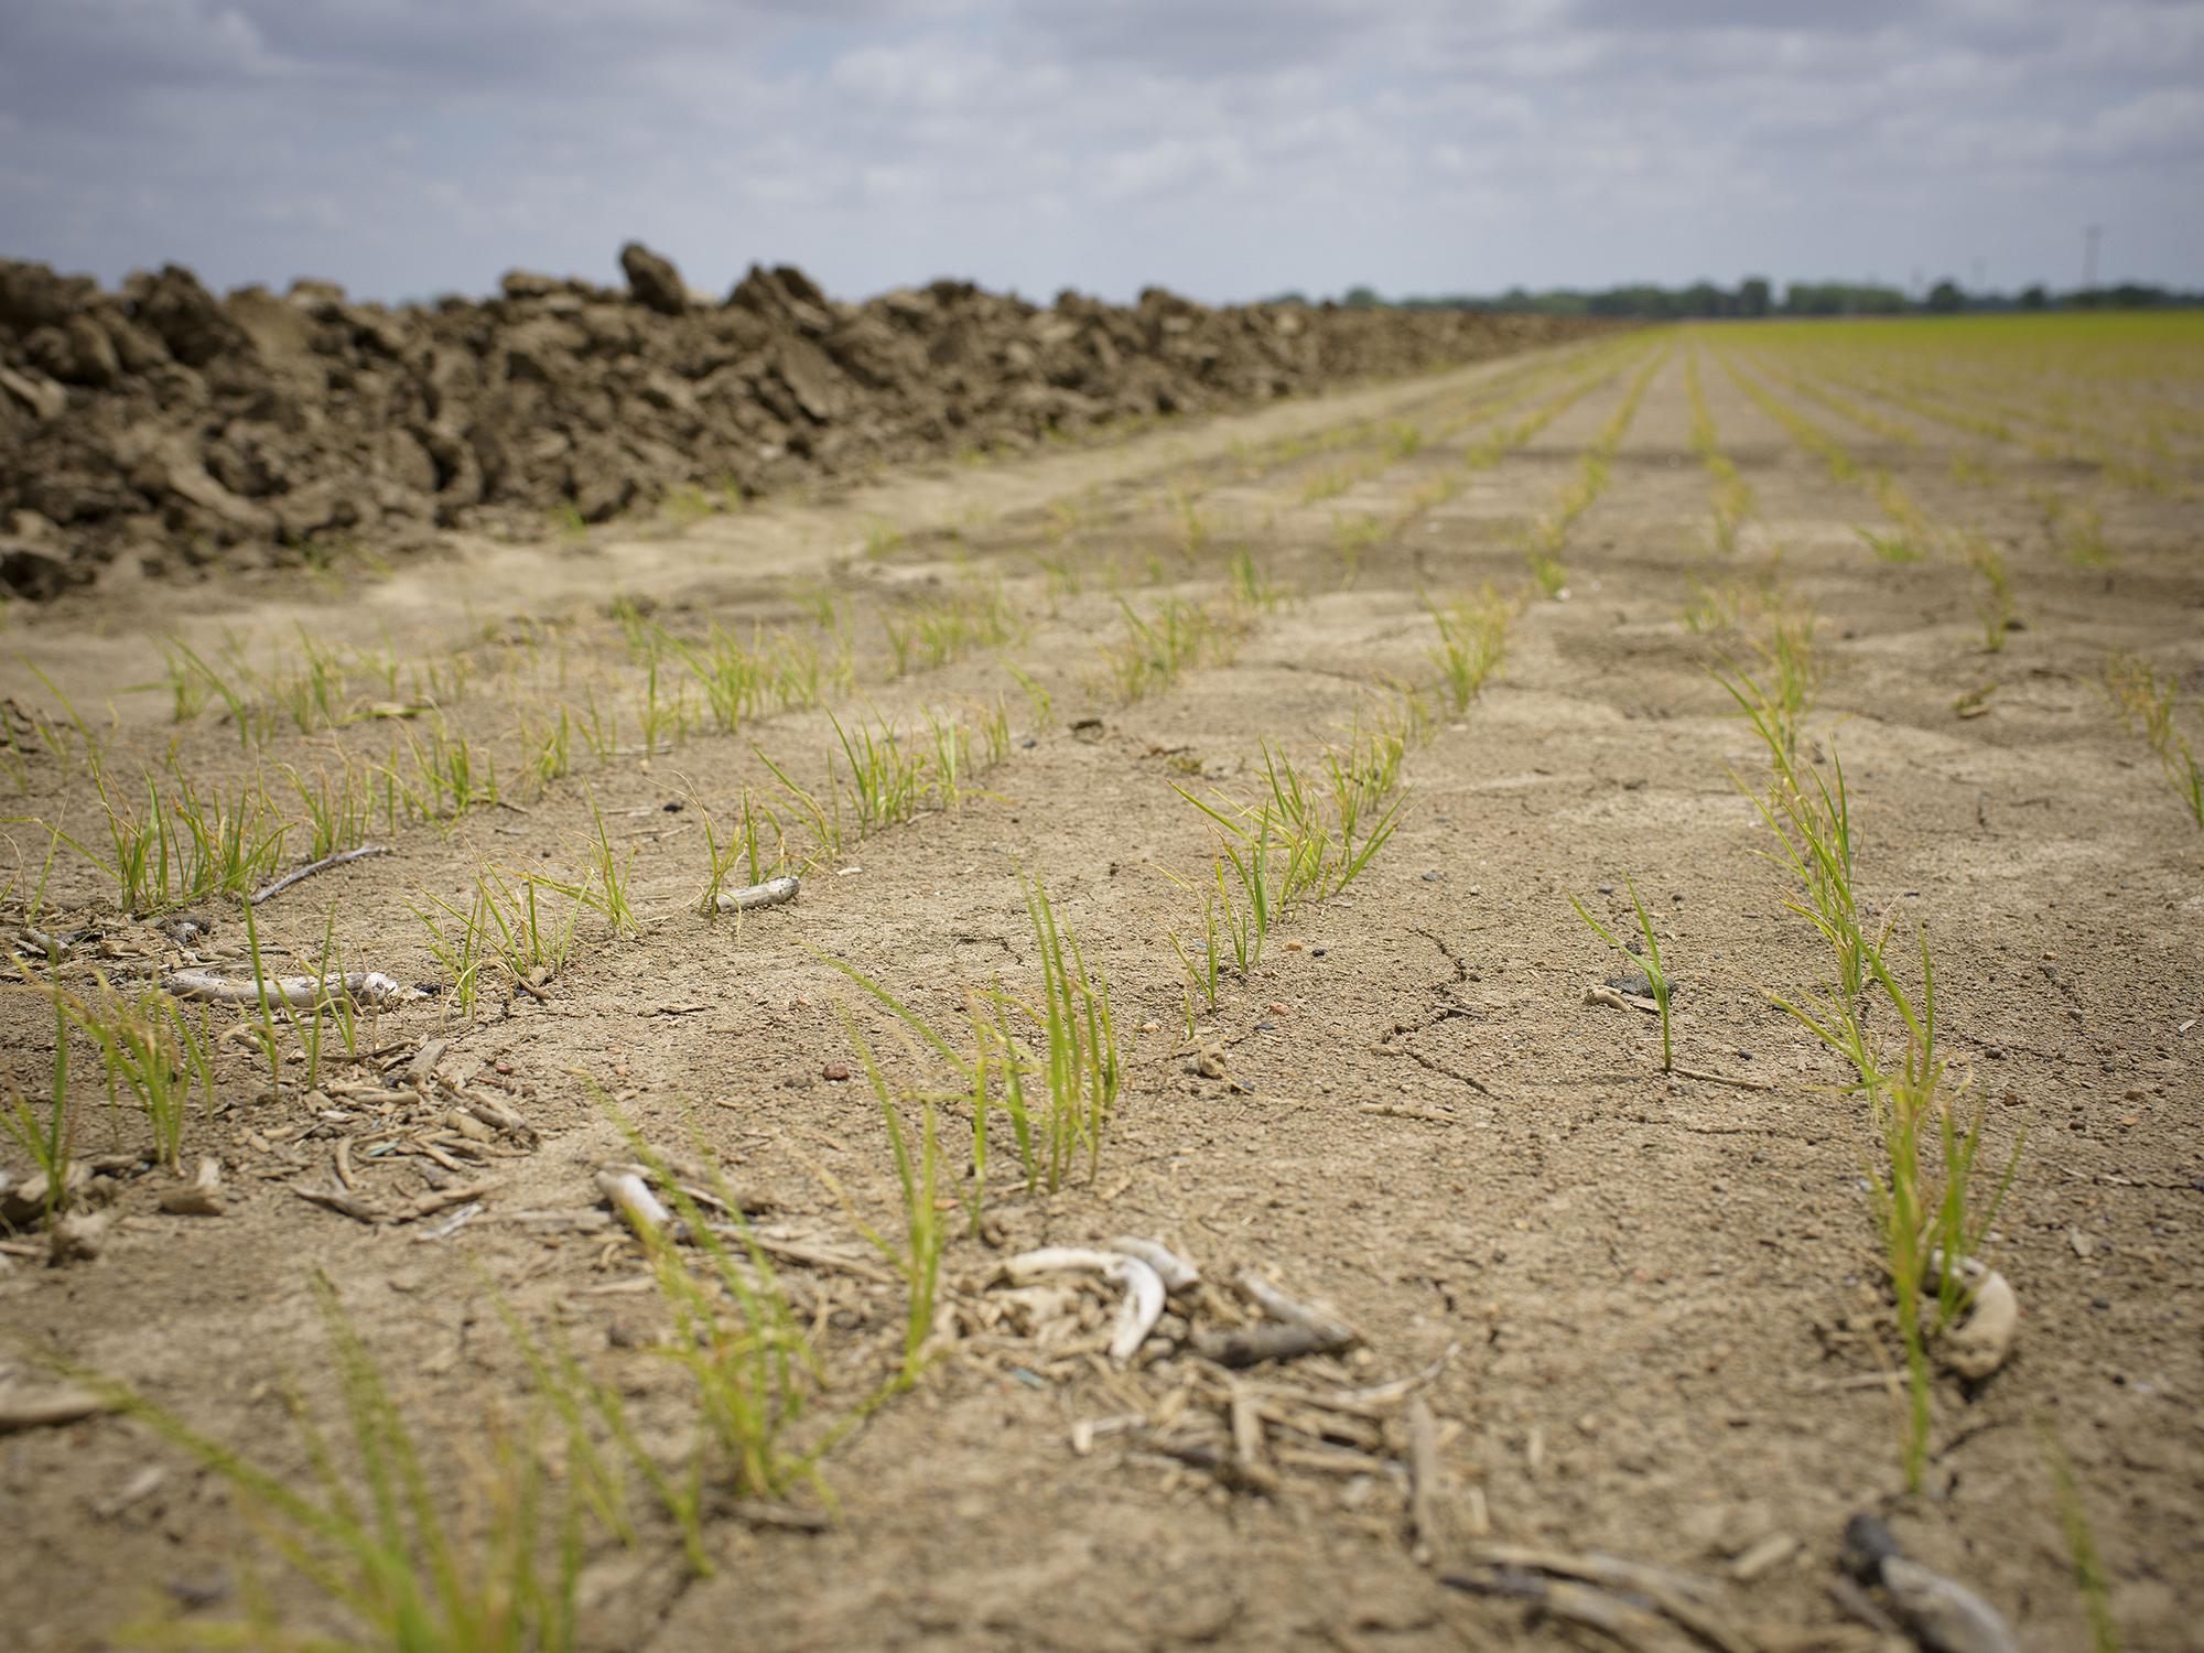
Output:
[[542,531],[696,485],[1250,403],[1519,350],[1538,317],[1250,304],[1150,289],[1040,309],[965,282],[864,304],[758,269],[723,302],[639,245],[626,289],[514,271],[489,300],[388,309],[326,282],[214,298],[170,264],[106,293],[0,260],[0,588]]

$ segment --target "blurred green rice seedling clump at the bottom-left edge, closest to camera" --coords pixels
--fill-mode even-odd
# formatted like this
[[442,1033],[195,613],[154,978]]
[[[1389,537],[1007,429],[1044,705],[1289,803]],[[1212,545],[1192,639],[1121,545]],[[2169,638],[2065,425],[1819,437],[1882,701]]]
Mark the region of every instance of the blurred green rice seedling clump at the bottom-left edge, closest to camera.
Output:
[[335,1446],[298,1397],[291,1419],[311,1463],[291,1477],[192,1428],[128,1386],[71,1373],[179,1448],[227,1490],[269,1547],[344,1620],[342,1640],[284,1631],[253,1598],[251,1620],[234,1627],[163,1624],[163,1642],[203,1646],[361,1646],[408,1653],[569,1653],[575,1646],[582,1578],[582,1505],[536,1450],[536,1430],[518,1439],[491,1428],[489,1468],[472,1477],[469,1530],[439,1508],[430,1466],[403,1408],[366,1340],[313,1274],[313,1296],[328,1336],[348,1441]]

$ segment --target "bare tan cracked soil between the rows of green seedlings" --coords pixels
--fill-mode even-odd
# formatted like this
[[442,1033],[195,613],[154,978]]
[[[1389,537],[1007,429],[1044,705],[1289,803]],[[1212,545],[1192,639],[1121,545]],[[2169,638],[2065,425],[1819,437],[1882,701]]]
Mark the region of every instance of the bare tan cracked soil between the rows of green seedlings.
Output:
[[[1704,342],[1732,348],[1735,335]],[[436,998],[390,1009],[361,1036],[381,1060],[328,1067],[320,1095],[298,1065],[269,1095],[264,1062],[225,1045],[223,1111],[185,1133],[187,1164],[220,1157],[225,1212],[163,1214],[174,1179],[159,1170],[104,1179],[115,1221],[95,1261],[51,1267],[35,1234],[0,1256],[7,1340],[123,1378],[302,1479],[284,1393],[333,1415],[309,1289],[309,1272],[324,1270],[454,1508],[465,1508],[458,1479],[489,1455],[485,1430],[527,1413],[498,1300],[538,1333],[564,1327],[584,1364],[630,1397],[646,1437],[674,1444],[688,1391],[648,1349],[666,1314],[637,1245],[540,1217],[586,1219],[593,1170],[626,1153],[595,1093],[668,1153],[692,1150],[694,1124],[745,1188],[776,1201],[778,1232],[862,1263],[785,1263],[835,1382],[815,1428],[890,1371],[904,1314],[853,1223],[893,1230],[899,1217],[877,1104],[862,1073],[831,1078],[855,1067],[840,1016],[877,1040],[899,1080],[926,1082],[822,954],[952,1023],[968,987],[1036,987],[1018,875],[1038,873],[1106,970],[1128,1038],[1100,1175],[1029,1197],[998,1173],[979,1239],[950,1212],[943,1276],[959,1336],[912,1393],[822,1459],[824,1530],[716,1505],[716,1571],[692,1578],[670,1525],[637,1503],[637,1547],[591,1552],[586,1644],[683,1653],[730,1633],[774,1649],[1605,1644],[1523,1602],[1441,1585],[1479,1543],[1514,1541],[1715,1580],[1746,1644],[1876,1646],[1827,1589],[1845,1521],[1865,1510],[1995,1602],[2023,1646],[2070,1649],[2087,1642],[2087,1622],[2054,1437],[2125,1646],[2195,1646],[2204,833],[2096,688],[2111,648],[2191,683],[2204,670],[2193,509],[2103,489],[2116,560],[2081,569],[2054,551],[2025,485],[2087,478],[2010,450],[1995,456],[1995,483],[1962,485],[1955,432],[1924,425],[1906,450],[1814,410],[1935,520],[2003,547],[2025,626],[1988,655],[1975,575],[1948,558],[1869,555],[1854,531],[1878,520],[1869,489],[1832,480],[1701,355],[1721,445],[1757,494],[1741,549],[1728,560],[1708,549],[1690,348],[1600,342],[681,529],[452,542],[439,560],[315,588],[112,586],[18,617],[9,644],[22,663],[93,723],[112,701],[117,754],[174,749],[209,780],[247,771],[231,727],[214,712],[172,725],[163,688],[117,692],[159,683],[150,633],[201,648],[236,637],[256,661],[295,628],[467,659],[450,723],[500,754],[518,809],[377,831],[397,853],[262,906],[262,946],[313,959],[333,921],[346,961],[432,981],[408,904],[461,904],[485,862],[577,864],[591,800],[622,853],[635,851],[641,934],[591,917],[560,974],[533,992],[485,985],[472,1025]],[[1662,350],[1607,491],[1567,536],[1567,599],[1523,604],[1481,699],[1408,754],[1393,842],[1344,893],[1296,912],[1188,1036],[1166,932],[1190,934],[1199,904],[1166,873],[1201,877],[1214,833],[1177,787],[1247,798],[1265,743],[1314,758],[1384,679],[1428,688],[1424,593],[1527,588],[1514,536],[1567,487],[1635,366]],[[1466,417],[1508,397],[1530,410],[1585,379],[1587,361],[1589,395],[1468,472],[1450,500],[1415,509],[1483,430]],[[1408,456],[1384,447],[1382,423],[1349,430],[1402,419],[1426,434]],[[1281,447],[1336,430],[1349,439],[1329,452]],[[1311,476],[1364,458],[1360,480],[1311,498],[1322,491]],[[1188,503],[1203,525],[1192,549]],[[1342,588],[1338,520],[1362,516],[1389,529]],[[1221,604],[1241,549],[1296,599],[1247,611],[1236,659],[1120,703],[1098,652],[1124,633],[1120,595],[1142,613],[1164,595]],[[1078,591],[1036,558],[1060,558]],[[2021,1294],[2019,1353],[1981,1384],[1937,1380],[1917,1497],[1902,1494],[1898,1342],[1862,1184],[1873,1133],[1836,1060],[1763,992],[1803,990],[1821,959],[1785,912],[1768,833],[1730,778],[1761,774],[1763,754],[1706,666],[1746,633],[1682,619],[1693,577],[1750,588],[1776,569],[1823,617],[1827,677],[1809,730],[1823,756],[1843,754],[1865,890],[1900,923],[1926,926],[1944,1038],[1986,1104],[1986,1157],[2021,1144],[1988,1243]],[[1018,615],[1014,641],[890,674],[882,613],[992,582]],[[758,749],[824,776],[824,710],[694,732],[652,754],[637,749],[630,712],[611,763],[577,743],[573,776],[516,778],[516,721],[540,721],[586,685],[641,694],[615,597],[619,613],[699,635],[714,619],[811,626],[822,595],[855,644],[855,690],[833,696],[835,710],[908,727],[923,707],[1007,696],[1014,738],[985,796],[846,842],[793,906],[734,923],[690,908],[701,809],[725,824],[745,785],[767,793]],[[1051,694],[1049,721],[1003,659]],[[22,666],[7,672],[18,701],[51,707]],[[1955,701],[1992,681],[1988,714],[1959,716]],[[381,721],[289,732],[258,763],[280,780],[284,763],[311,771],[339,749],[364,758],[388,745]],[[11,815],[104,831],[79,763],[33,749],[24,787]],[[20,912],[46,835],[7,831]],[[1618,921],[1624,871],[1679,981],[1679,1060],[1754,1089],[1664,1080],[1655,1020],[1587,1003],[1616,965],[1569,895]],[[238,904],[201,908],[216,926],[201,950],[236,970]],[[112,886],[66,853],[46,915],[48,930],[104,917],[110,972],[174,948],[152,923],[117,921]],[[0,1071],[35,1098],[51,1082],[51,1005],[18,992],[0,1018]],[[443,1040],[430,1067],[461,1091],[439,1098],[414,1071],[428,1040]],[[357,1100],[364,1078],[370,1100]],[[485,1091],[533,1139],[496,1135],[458,1157],[445,1146],[450,1166],[370,1157],[370,1139],[417,1142],[397,1126],[430,1126],[454,1095]],[[82,1115],[79,1153],[143,1146],[143,1124],[90,1093]],[[954,1117],[946,1128],[963,1142]],[[344,1168],[383,1212],[489,1181],[480,1214],[430,1239],[447,1212],[368,1225],[300,1199],[300,1186],[337,1188],[335,1155],[353,1137]],[[7,1164],[20,1170],[22,1157]],[[1157,1450],[1144,1428],[1208,1406],[1208,1389],[1188,1389],[1190,1355],[1150,1349],[1115,1371],[1100,1353],[1034,1347],[1009,1320],[987,1325],[1001,1256],[1124,1232],[1170,1239],[1212,1289],[1270,1270],[1351,1320],[1353,1353],[1256,1373],[1281,1393],[1373,1386],[1444,1360],[1419,1389],[1437,1422],[1428,1565],[1411,1543],[1404,1474],[1389,1468],[1408,1452],[1402,1406],[1373,1404],[1322,1446],[1276,1430],[1274,1483],[1234,1485]],[[1073,1450],[1082,1419],[1120,1415],[1144,1426]],[[104,1646],[148,1613],[220,1622],[256,1580],[298,1622],[317,1611],[280,1565],[253,1560],[223,1481],[141,1424],[95,1415],[4,1435],[0,1490],[0,1602],[15,1646]],[[820,1508],[807,1488],[789,1501]],[[1633,1642],[1695,1644],[1673,1624]]]

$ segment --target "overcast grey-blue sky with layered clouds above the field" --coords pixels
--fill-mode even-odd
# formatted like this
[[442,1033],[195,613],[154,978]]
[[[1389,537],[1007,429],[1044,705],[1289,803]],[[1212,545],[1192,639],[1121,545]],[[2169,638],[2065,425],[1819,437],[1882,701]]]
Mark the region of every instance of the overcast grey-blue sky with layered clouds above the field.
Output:
[[487,291],[2204,284],[2195,0],[0,0],[0,256]]

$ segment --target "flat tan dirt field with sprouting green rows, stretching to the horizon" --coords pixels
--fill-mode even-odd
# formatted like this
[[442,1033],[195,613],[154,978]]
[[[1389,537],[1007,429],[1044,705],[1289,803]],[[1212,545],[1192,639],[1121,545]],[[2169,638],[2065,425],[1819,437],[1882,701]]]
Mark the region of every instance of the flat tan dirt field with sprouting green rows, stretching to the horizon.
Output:
[[[278,1009],[273,1058],[227,1031],[262,1007],[187,1012],[214,1034],[216,1113],[190,1098],[181,1175],[75,1025],[77,1214],[48,1225],[33,1155],[0,1146],[0,1397],[115,1400],[42,1369],[57,1353],[326,1499],[293,1397],[368,1497],[355,1452],[388,1417],[348,1419],[344,1391],[372,1362],[456,1543],[542,1552],[573,1512],[593,1649],[1611,1644],[1571,1613],[1622,1646],[1867,1649],[1884,1640],[1832,1598],[1860,1512],[2021,1646],[2092,1644],[2105,1602],[2120,1646],[2197,1646],[2204,831],[2169,774],[2204,674],[2204,377],[2189,333],[1920,337],[1618,335],[741,514],[454,538],[381,573],[117,575],[18,611],[7,906],[66,943],[26,941],[0,1009],[26,1126],[48,1122],[64,994],[112,1029],[163,970],[251,981],[238,890],[309,860],[304,793],[353,800],[331,844],[395,853],[256,906],[267,972],[430,992],[359,1009],[353,1049],[326,1009]],[[1459,707],[1430,615],[1452,604],[1505,646]],[[2012,1164],[1979,1256],[2019,1296],[2019,1338],[1981,1378],[1946,1369],[1975,1305],[1929,1338],[1911,1494],[1871,1197],[1889,1102],[1772,1003],[1809,1005],[1829,948],[1754,809],[1770,749],[1708,670],[1768,683],[1781,650],[1803,659],[1801,787],[1843,763],[1865,928],[1889,926],[1915,1003],[1915,928],[1933,950],[1948,1069],[1924,1188],[1944,1117],[1981,1122],[1975,1212]],[[2167,763],[2116,714],[2116,650],[2180,688]],[[1221,844],[1272,873],[1276,846],[1223,840],[1188,793],[1239,822],[1265,752],[1320,774],[1327,749],[1397,824],[1212,983],[1203,895],[1223,923],[1250,901]],[[148,873],[128,919],[93,857],[117,868],[117,833],[145,831],[148,767],[168,820],[190,782],[187,809],[247,846],[289,835],[194,862],[227,893]],[[707,833],[727,844],[745,793],[802,893],[707,919]],[[37,822],[90,855],[48,855]],[[758,838],[771,875],[780,833]],[[1653,983],[1624,979],[1644,965],[1571,910],[1633,934],[1624,873],[1695,1076],[1662,1073]],[[987,998],[1049,992],[1020,879],[1076,930],[1093,996],[1060,985],[1082,1038],[1104,992],[1115,1029],[1113,1095],[1091,1069],[1058,1115],[1054,1192],[1045,1148],[1027,1190],[1003,1091],[1016,1045],[1038,1117],[1047,1036]],[[723,888],[749,882],[741,855]],[[500,957],[498,915],[525,923],[529,893],[544,930],[573,912],[564,957],[558,934]],[[207,928],[176,930],[172,897]],[[899,1192],[866,1049],[912,1157],[937,1115],[930,1195]],[[597,1173],[657,1155],[716,1157],[754,1208],[756,1261],[719,1223],[747,1296],[710,1283],[710,1247],[646,1245],[604,1208]],[[218,1214],[163,1210],[203,1157]],[[912,1316],[906,1267],[923,1281],[934,1232],[939,1300]],[[1106,1351],[1117,1285],[998,1278],[1120,1234],[1201,1272],[1131,1360]],[[71,1247],[97,1254],[57,1261]],[[364,1355],[342,1355],[315,1272]],[[1228,1366],[1239,1322],[1283,1325],[1243,1272],[1351,1347]],[[725,1424],[696,1459],[690,1558],[602,1415],[577,1406],[571,1430],[544,1400],[514,1325],[622,1397],[677,1494]],[[683,1338],[688,1364],[668,1360]],[[804,1400],[778,1430],[736,1417],[776,1415],[776,1393]],[[582,1439],[624,1514],[588,1499]],[[348,1620],[262,1543],[302,1516],[238,1474],[106,1411],[0,1435],[9,1642],[258,1611],[397,1644],[361,1629],[401,1618],[388,1598]],[[1554,1582],[1593,1552],[1708,1593]],[[489,1563],[463,1571],[478,1605],[511,1596]],[[553,1600],[558,1571],[531,1571]],[[491,1613],[408,1644],[553,1642]]]

